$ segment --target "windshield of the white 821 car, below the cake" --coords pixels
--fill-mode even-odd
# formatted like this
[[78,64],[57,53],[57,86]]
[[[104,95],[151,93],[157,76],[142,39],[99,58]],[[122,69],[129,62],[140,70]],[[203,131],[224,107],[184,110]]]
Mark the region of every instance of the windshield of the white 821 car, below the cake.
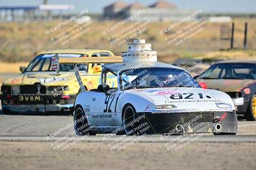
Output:
[[120,73],[122,89],[200,87],[184,70],[171,68],[129,69]]

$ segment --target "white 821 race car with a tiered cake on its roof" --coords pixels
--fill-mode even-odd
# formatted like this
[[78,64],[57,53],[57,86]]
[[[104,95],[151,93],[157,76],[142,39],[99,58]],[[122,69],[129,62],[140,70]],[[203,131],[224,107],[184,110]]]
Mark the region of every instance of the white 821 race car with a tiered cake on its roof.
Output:
[[[157,62],[157,52],[145,39],[134,39],[128,49],[122,52],[123,62],[102,66],[97,89],[77,95],[77,135],[236,134],[236,108],[230,96],[202,89],[185,69]],[[108,86],[108,74],[116,76],[115,87]]]

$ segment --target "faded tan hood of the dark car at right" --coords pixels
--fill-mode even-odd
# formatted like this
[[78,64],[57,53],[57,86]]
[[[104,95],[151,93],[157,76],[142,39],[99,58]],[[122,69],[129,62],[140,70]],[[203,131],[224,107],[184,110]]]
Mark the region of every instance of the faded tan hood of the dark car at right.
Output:
[[203,82],[207,84],[207,89],[215,89],[222,92],[239,92],[243,87],[256,82],[256,80],[214,79],[203,80]]

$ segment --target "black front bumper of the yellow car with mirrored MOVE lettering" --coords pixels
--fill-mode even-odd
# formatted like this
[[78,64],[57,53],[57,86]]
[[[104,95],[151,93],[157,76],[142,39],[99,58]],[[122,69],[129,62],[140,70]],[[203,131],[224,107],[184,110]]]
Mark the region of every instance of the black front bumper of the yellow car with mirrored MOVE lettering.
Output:
[[75,96],[49,96],[45,94],[1,95],[2,108],[8,113],[72,113]]

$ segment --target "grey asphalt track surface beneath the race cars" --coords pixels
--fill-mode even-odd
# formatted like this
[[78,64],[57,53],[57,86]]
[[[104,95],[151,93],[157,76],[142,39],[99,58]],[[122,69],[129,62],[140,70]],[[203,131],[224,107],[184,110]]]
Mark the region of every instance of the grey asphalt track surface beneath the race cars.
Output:
[[[4,115],[0,111],[0,141],[56,141],[64,136],[71,140],[81,142],[105,142],[116,141],[122,136],[110,136],[105,138],[103,134],[97,136],[85,136],[73,138],[74,128],[72,126],[72,116],[65,115]],[[106,135],[105,135],[106,136]],[[190,136],[190,137],[189,137]],[[209,143],[256,143],[256,122],[239,120],[237,135],[213,136],[212,134],[202,134],[196,142]],[[172,140],[189,140],[188,136],[168,136],[148,135],[137,139],[141,143],[163,143]],[[127,139],[129,141],[129,139]]]

